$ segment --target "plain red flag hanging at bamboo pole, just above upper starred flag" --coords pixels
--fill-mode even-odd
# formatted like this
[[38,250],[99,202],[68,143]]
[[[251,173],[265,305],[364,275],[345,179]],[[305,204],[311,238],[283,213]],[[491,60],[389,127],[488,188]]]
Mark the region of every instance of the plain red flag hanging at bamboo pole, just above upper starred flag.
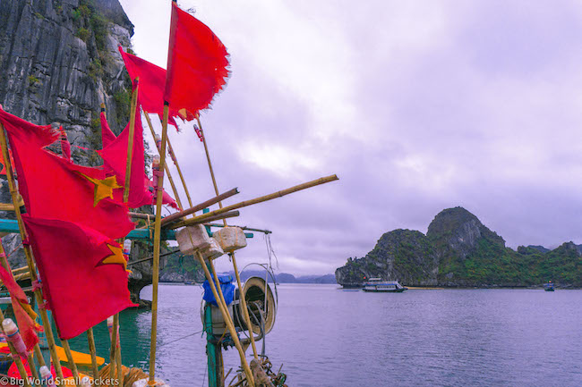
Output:
[[[127,164],[128,139],[129,123],[125,127],[124,131],[122,131],[116,139],[111,141],[107,147],[103,147],[103,149],[98,150],[98,154],[103,157],[106,171],[108,172],[109,169],[113,171],[117,179],[117,184],[119,184],[119,186],[122,188],[125,185],[125,166]],[[131,208],[137,208],[151,204],[151,199],[148,198],[147,190],[145,184],[143,183],[143,173],[145,169],[143,152],[143,127],[141,126],[140,106],[138,104],[136,106],[135,125],[133,128],[132,170],[129,182],[129,198],[127,202],[127,205]]]

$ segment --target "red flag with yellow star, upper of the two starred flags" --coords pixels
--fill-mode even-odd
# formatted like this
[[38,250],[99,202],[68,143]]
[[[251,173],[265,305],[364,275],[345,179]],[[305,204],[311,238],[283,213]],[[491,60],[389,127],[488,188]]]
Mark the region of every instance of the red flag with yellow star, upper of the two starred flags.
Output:
[[[79,222],[110,238],[124,238],[134,224],[127,206],[113,200],[115,177],[75,165],[10,133],[19,190],[28,214]],[[143,172],[141,172],[143,173]]]

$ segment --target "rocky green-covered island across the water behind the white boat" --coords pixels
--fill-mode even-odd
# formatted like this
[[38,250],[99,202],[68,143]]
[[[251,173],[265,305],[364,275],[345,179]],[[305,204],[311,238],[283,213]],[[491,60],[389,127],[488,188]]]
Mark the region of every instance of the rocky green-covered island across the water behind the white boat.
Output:
[[582,287],[582,245],[563,243],[507,248],[505,240],[463,207],[434,217],[426,235],[394,230],[383,234],[365,257],[349,257],[336,270],[344,287],[371,277],[407,286],[529,287],[552,280],[560,287]]

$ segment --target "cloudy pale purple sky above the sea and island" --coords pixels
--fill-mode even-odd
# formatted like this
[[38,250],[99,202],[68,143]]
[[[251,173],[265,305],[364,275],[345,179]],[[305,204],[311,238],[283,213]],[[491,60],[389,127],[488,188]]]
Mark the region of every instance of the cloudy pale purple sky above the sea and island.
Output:
[[[121,4],[134,51],[166,68],[170,1]],[[453,206],[511,248],[582,243],[580,2],[179,4],[230,54],[201,114],[220,191],[241,191],[225,204],[338,174],[229,220],[273,231],[278,272],[334,273]],[[213,197],[192,124],[168,133],[193,201]],[[239,268],[266,263],[248,242]]]

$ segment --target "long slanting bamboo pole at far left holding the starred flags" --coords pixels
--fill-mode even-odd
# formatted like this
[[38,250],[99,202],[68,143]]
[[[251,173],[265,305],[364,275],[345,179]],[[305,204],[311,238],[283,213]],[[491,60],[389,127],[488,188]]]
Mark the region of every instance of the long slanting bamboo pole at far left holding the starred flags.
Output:
[[[16,184],[14,182],[13,175],[13,165],[8,154],[8,145],[6,142],[6,136],[4,134],[4,125],[0,122],[0,147],[2,147],[2,156],[4,156],[4,164],[6,169],[6,180],[8,181],[8,187],[10,189],[10,194],[13,198],[13,203],[18,203],[18,189],[16,189]],[[18,221],[18,228],[21,233],[21,240],[28,240],[28,235],[24,228],[24,223],[22,223],[21,208],[20,206],[14,206],[14,214],[16,214],[16,219]],[[26,257],[26,263],[29,266],[30,281],[32,283],[37,283],[39,278],[37,276],[37,270],[32,256],[32,250],[30,245],[22,243],[22,249],[24,250],[24,257]],[[39,288],[35,288],[34,297],[39,304],[39,313],[42,324],[45,328],[45,334],[47,335],[48,349],[50,351],[50,357],[53,359],[53,364],[55,366],[56,377],[61,381],[64,381],[63,370],[61,369],[61,363],[59,362],[58,356],[56,355],[56,343],[55,336],[53,335],[53,329],[48,321],[47,309],[44,307],[44,300],[42,299],[42,293]]]

